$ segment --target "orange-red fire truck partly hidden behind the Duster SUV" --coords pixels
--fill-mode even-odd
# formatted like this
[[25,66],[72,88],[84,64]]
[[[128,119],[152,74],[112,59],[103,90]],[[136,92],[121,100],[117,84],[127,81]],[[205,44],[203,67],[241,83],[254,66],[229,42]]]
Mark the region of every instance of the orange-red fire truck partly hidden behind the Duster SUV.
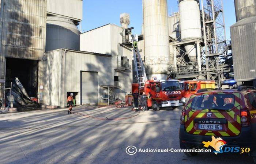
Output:
[[182,102],[188,101],[192,94],[195,94],[199,89],[215,89],[214,80],[189,80],[180,81],[180,86],[182,90]]

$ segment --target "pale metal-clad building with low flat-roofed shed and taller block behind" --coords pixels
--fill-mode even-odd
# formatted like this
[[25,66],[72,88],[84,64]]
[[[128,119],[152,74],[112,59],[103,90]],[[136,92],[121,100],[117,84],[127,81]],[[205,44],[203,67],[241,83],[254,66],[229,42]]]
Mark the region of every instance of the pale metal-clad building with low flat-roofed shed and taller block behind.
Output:
[[123,31],[107,24],[81,34],[80,51],[46,52],[42,103],[64,107],[69,93],[76,105],[124,99],[131,91],[132,69],[131,50],[120,46]]

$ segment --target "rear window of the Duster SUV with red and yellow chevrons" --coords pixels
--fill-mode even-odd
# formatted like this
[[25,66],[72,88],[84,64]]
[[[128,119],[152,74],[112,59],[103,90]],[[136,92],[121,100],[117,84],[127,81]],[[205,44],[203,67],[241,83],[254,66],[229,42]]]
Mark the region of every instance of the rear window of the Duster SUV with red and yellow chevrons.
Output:
[[193,110],[220,109],[229,110],[233,108],[235,96],[233,94],[206,94],[196,95],[191,104]]

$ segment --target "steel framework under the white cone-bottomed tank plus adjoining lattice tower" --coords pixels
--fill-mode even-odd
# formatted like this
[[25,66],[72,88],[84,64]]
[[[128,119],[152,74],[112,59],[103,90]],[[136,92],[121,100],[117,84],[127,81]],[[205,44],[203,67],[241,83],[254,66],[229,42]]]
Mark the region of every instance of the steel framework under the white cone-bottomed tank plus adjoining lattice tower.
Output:
[[[170,38],[173,46],[173,67],[170,77],[176,79],[214,80],[218,87],[221,81],[229,78],[232,56],[231,42],[226,41],[225,19],[222,0],[200,0],[202,19],[202,39],[186,42]],[[184,49],[187,43],[194,43],[196,62],[188,62]]]

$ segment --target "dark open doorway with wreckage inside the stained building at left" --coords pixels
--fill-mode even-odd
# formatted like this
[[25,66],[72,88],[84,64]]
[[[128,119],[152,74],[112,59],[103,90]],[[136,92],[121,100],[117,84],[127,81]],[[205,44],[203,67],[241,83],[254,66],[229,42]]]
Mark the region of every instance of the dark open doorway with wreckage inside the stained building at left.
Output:
[[11,87],[11,82],[17,77],[26,89],[29,97],[37,97],[38,61],[7,58],[5,86]]

